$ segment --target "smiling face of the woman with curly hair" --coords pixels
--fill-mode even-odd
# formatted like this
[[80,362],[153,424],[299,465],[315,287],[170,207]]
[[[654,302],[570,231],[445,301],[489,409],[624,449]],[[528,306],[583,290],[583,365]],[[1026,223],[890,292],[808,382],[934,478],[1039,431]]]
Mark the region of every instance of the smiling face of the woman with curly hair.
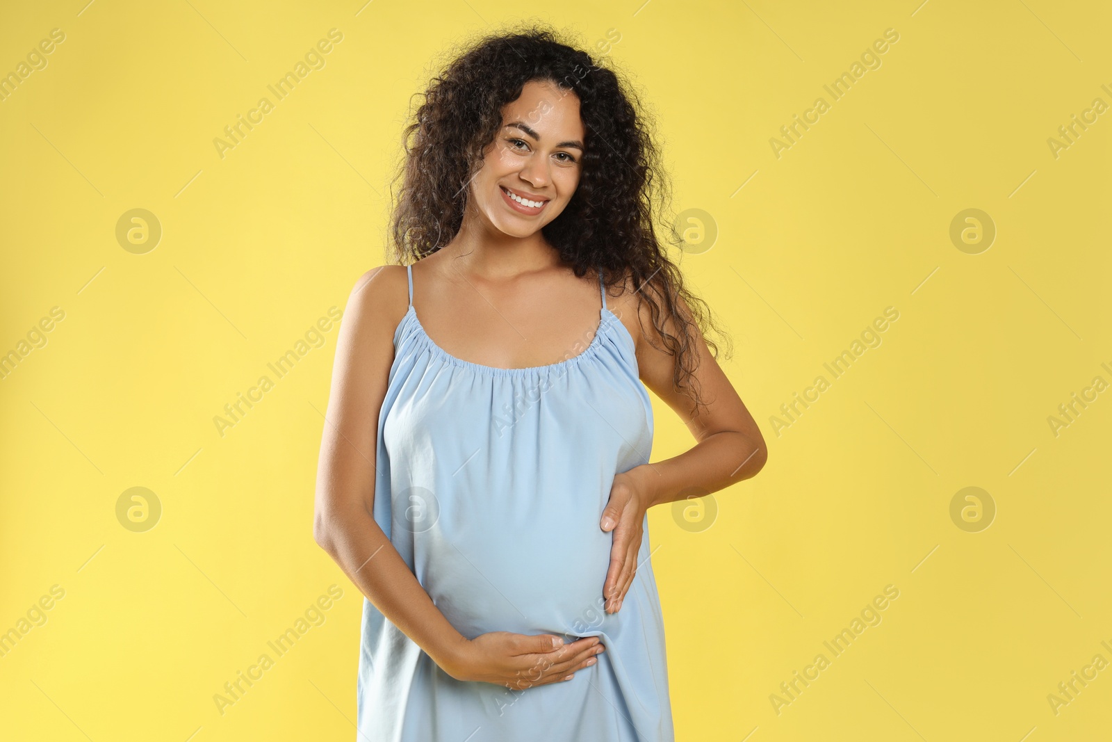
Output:
[[530,80],[503,107],[502,121],[471,180],[470,205],[495,229],[528,237],[559,216],[579,185],[585,133],[579,99],[552,82]]

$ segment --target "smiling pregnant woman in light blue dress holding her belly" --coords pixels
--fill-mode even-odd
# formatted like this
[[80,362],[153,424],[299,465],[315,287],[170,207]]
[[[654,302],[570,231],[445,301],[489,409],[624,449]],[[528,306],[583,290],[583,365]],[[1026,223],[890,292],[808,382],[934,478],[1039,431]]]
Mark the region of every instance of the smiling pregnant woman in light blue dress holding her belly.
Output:
[[[405,151],[405,265],[351,290],[317,479],[366,596],[358,739],[673,740],[646,512],[766,449],[657,243],[645,121],[528,29],[454,59]],[[646,387],[689,451],[649,463]]]

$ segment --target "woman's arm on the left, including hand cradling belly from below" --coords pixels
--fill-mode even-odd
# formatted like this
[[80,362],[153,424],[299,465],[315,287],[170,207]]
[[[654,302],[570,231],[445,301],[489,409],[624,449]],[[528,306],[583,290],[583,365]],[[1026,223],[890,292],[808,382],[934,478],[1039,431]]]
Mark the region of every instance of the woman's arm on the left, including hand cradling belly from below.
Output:
[[348,298],[320,442],[314,538],[367,600],[453,677],[506,684],[527,675],[528,685],[562,680],[594,653],[594,637],[555,649],[552,634],[493,632],[468,641],[375,522],[378,415],[407,287],[403,267],[380,266],[364,274]]

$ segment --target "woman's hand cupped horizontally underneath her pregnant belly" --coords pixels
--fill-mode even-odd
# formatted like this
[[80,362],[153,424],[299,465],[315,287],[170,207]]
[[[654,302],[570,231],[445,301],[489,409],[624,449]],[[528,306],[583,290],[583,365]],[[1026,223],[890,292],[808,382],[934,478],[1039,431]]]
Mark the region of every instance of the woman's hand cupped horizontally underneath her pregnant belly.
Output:
[[453,661],[440,667],[456,680],[524,690],[570,680],[577,670],[595,664],[595,655],[605,650],[597,636],[562,642],[554,634],[493,631],[465,640]]

